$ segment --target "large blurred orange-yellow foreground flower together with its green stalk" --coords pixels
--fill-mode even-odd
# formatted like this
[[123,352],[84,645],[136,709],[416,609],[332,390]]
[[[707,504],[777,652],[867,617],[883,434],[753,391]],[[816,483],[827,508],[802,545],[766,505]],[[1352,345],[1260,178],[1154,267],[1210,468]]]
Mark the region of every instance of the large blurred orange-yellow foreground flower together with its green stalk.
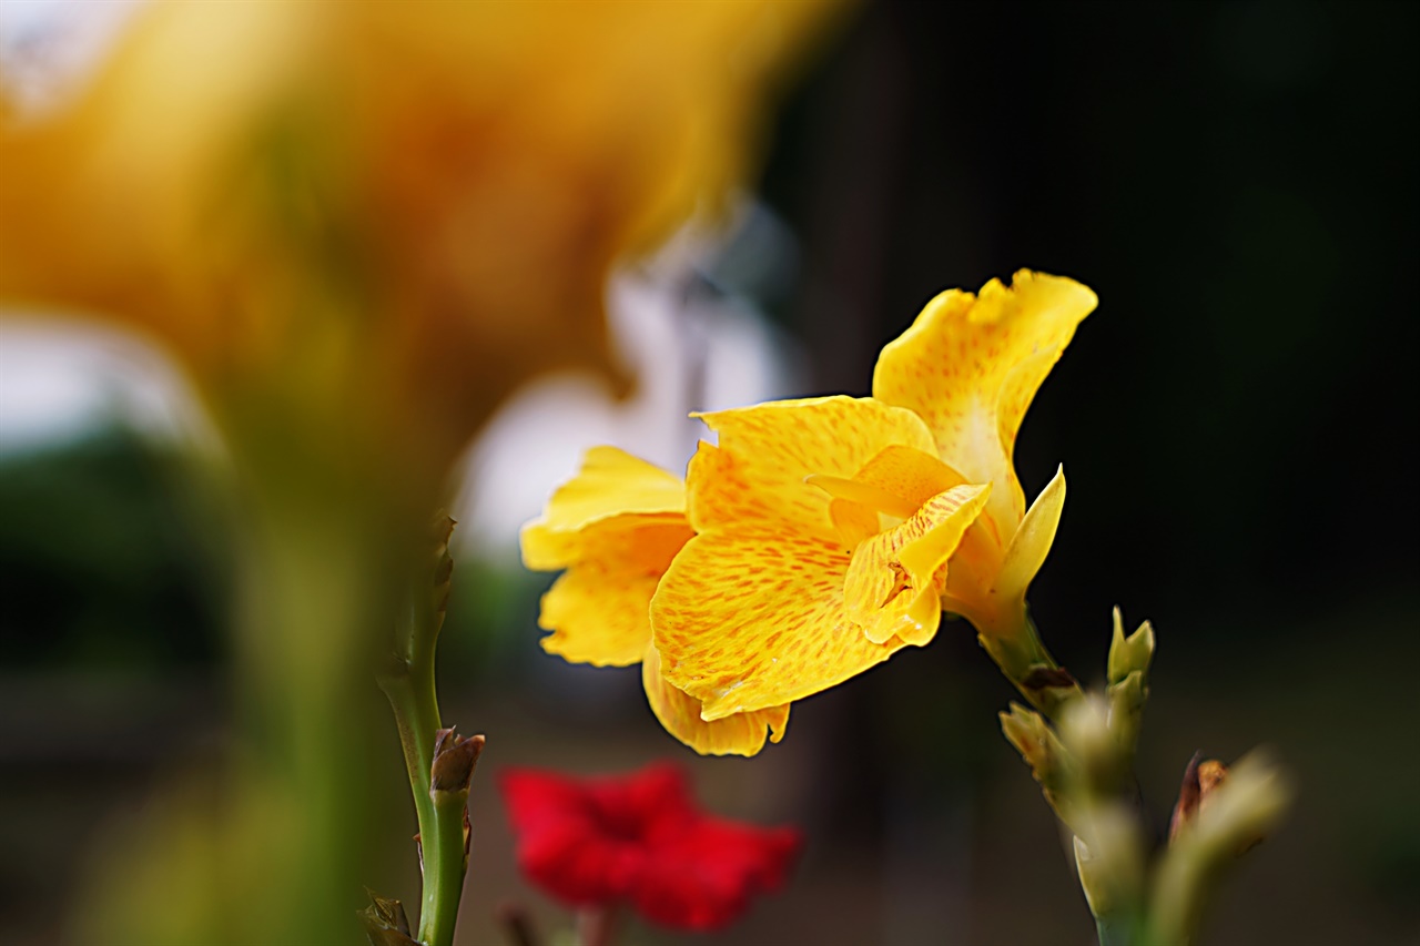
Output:
[[[65,107],[0,101],[0,301],[156,337],[244,474],[240,764],[170,942],[351,922],[351,720],[443,476],[530,375],[611,372],[608,271],[743,179],[831,6],[155,0]],[[170,889],[114,881],[97,928],[153,940]]]

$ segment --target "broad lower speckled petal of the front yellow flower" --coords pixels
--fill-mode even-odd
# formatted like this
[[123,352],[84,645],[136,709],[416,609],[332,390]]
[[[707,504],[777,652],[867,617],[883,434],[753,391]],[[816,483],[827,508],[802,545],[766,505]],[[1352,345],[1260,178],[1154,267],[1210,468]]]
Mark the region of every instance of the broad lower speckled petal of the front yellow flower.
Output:
[[717,720],[791,703],[886,660],[843,608],[848,553],[788,523],[696,535],[650,602],[662,673]]

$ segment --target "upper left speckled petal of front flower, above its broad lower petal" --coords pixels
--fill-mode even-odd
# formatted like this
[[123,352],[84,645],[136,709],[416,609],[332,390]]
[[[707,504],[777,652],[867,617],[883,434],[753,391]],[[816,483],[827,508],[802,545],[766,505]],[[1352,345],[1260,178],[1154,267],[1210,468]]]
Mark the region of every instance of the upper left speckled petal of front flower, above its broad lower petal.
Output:
[[892,445],[934,450],[920,418],[872,398],[777,401],[697,416],[719,432],[720,445],[701,447],[686,474],[696,531],[788,520],[815,535],[836,535],[829,496],[807,484],[807,476],[852,479]]

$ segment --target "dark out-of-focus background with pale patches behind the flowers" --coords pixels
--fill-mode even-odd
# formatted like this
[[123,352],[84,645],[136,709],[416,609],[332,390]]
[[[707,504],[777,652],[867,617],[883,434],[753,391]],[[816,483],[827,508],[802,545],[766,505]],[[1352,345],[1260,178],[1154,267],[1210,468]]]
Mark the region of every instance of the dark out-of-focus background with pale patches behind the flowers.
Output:
[[[639,669],[541,652],[551,577],[510,544],[588,440],[677,466],[687,409],[866,393],[936,291],[1031,267],[1100,297],[1017,447],[1027,493],[1056,463],[1069,476],[1032,588],[1045,639],[1098,682],[1110,608],[1154,622],[1139,774],[1160,824],[1198,749],[1269,744],[1298,787],[1208,942],[1420,943],[1417,20],[1409,3],[853,16],[780,109],[736,233],[687,236],[613,293],[639,393],[588,406],[592,382],[545,382],[471,455],[440,651],[446,720],[490,739],[462,942],[498,942],[504,901],[568,923],[513,869],[498,766],[659,757],[711,807],[808,837],[788,891],[696,942],[1092,940],[997,729],[1011,692],[967,626],[797,705],[758,759],[699,759],[650,717]],[[192,476],[200,420],[152,393],[152,358],[0,334],[6,942],[62,942],[155,788],[224,744],[230,523]],[[75,364],[88,393],[65,386]],[[388,737],[369,788],[392,854],[371,885],[415,901]],[[633,925],[626,942],[673,939]]]

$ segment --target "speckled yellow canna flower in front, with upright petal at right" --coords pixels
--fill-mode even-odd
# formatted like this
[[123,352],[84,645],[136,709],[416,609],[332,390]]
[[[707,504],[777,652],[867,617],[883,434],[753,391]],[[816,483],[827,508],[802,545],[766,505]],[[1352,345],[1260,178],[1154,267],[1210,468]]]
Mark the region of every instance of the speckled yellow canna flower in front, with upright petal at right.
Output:
[[719,446],[687,473],[696,535],[650,615],[662,673],[703,719],[781,707],[924,645],[943,609],[1028,659],[1025,591],[1065,480],[1027,510],[1012,447],[1095,303],[1030,271],[947,291],[883,349],[872,398],[703,415]]

